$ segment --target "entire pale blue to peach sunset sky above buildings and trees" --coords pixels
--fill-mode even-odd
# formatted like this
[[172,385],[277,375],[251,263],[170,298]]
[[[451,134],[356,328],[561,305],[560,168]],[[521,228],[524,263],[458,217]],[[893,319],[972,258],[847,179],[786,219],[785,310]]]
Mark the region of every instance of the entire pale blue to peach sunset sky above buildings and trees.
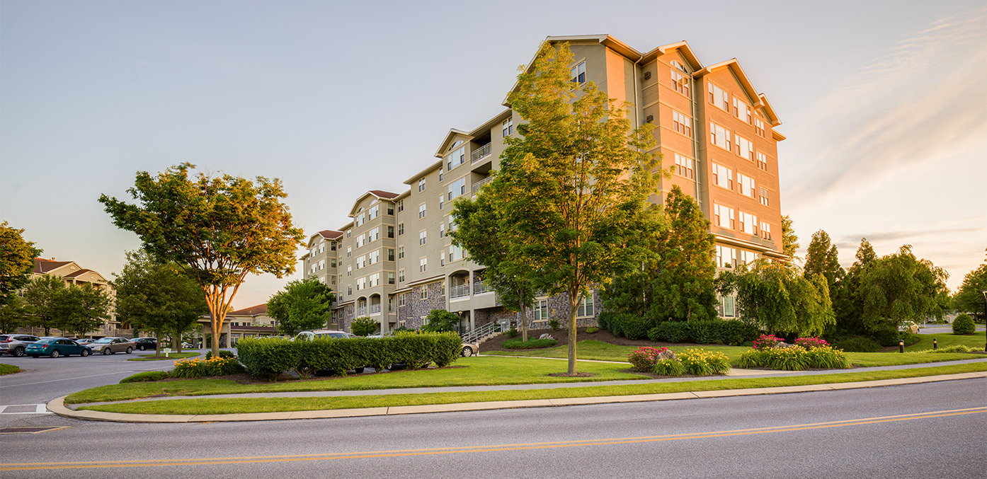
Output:
[[[501,111],[546,36],[573,34],[737,58],[788,137],[800,255],[819,230],[844,266],[862,238],[911,244],[952,291],[985,260],[982,0],[0,0],[0,220],[113,279],[140,243],[97,198],[188,162],[280,178],[306,237],[337,229],[367,190],[404,191],[450,128]],[[248,277],[234,307],[298,269]]]

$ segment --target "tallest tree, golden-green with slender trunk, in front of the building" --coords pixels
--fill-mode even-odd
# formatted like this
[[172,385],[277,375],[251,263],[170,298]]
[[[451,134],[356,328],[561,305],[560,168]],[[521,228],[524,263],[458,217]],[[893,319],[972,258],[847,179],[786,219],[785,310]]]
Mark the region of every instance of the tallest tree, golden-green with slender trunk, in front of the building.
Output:
[[640,267],[639,232],[653,220],[647,199],[656,190],[652,125],[632,132],[627,104],[615,105],[592,82],[574,88],[571,62],[568,44],[545,42],[518,75],[507,102],[525,123],[504,139],[498,173],[510,196],[489,194],[500,227],[518,239],[509,254],[532,268],[532,286],[567,295],[575,375],[576,310],[591,286]]

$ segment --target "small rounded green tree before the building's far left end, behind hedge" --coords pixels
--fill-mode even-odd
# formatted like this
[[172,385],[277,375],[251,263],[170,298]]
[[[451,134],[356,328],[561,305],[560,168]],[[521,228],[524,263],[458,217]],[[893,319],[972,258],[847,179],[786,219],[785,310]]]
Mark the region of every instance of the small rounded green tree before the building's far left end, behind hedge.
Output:
[[325,327],[334,301],[333,290],[318,278],[295,280],[267,300],[267,315],[277,320],[281,334],[294,336],[299,331]]

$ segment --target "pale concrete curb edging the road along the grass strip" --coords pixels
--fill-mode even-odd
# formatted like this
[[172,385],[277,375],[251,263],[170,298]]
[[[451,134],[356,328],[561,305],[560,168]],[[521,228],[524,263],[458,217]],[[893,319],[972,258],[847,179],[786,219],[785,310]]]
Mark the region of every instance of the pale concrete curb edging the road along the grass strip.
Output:
[[62,396],[47,403],[47,408],[62,417],[86,421],[111,421],[117,423],[205,423],[240,421],[283,421],[290,419],[328,419],[363,416],[393,416],[402,414],[423,414],[437,412],[484,411],[493,409],[517,409],[531,407],[556,407],[586,404],[608,404],[626,402],[652,402],[682,399],[708,399],[714,397],[749,396],[759,394],[791,394],[825,390],[858,389],[889,385],[920,384],[945,380],[973,379],[987,377],[987,372],[960,373],[956,375],[901,377],[856,382],[834,382],[779,387],[756,387],[747,389],[726,389],[716,391],[668,392],[660,394],[635,394],[626,396],[569,397],[557,399],[525,399],[518,401],[464,402],[456,404],[431,404],[418,406],[372,407],[360,409],[333,409],[316,411],[287,411],[274,413],[207,414],[207,415],[166,415],[166,414],[121,414],[103,411],[69,409]]

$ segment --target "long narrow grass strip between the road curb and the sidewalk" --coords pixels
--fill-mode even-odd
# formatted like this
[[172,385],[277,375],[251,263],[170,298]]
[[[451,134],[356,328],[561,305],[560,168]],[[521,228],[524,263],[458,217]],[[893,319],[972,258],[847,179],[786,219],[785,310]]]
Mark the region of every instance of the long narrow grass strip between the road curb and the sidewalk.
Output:
[[344,397],[278,397],[265,399],[172,399],[139,403],[102,404],[79,409],[125,414],[234,414],[368,407],[395,407],[463,402],[512,401],[525,399],[558,399],[566,397],[620,396],[659,394],[667,392],[710,391],[758,387],[779,387],[806,384],[853,382],[901,377],[953,375],[987,371],[987,364],[941,366],[912,370],[841,373],[824,376],[788,376],[729,378],[685,382],[649,382],[618,386],[585,386],[553,389],[464,391],[419,394],[388,394]]

